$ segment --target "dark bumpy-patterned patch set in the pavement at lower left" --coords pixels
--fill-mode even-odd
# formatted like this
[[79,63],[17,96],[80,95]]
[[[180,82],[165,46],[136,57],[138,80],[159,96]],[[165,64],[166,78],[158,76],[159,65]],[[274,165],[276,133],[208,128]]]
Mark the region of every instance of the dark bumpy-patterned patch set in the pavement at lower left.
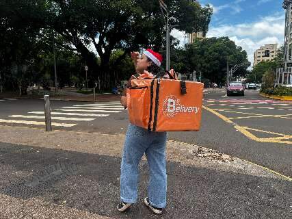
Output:
[[1,193],[16,198],[31,198],[41,194],[45,189],[69,176],[77,175],[78,167],[75,164],[54,164],[36,172],[22,181],[11,183]]

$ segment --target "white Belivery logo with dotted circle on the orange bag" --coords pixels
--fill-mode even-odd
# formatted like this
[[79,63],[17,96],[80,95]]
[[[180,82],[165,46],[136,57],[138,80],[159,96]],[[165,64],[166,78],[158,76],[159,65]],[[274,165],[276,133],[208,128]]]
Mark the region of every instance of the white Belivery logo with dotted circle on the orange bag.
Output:
[[181,101],[174,95],[167,96],[163,101],[163,114],[169,118],[174,118],[176,114],[197,114],[200,107],[181,105]]

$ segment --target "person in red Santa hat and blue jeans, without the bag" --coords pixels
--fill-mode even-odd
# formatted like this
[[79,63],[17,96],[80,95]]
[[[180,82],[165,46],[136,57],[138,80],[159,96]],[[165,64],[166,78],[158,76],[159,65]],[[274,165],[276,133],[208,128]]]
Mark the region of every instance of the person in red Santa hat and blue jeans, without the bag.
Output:
[[[140,56],[140,57],[139,57]],[[162,56],[151,49],[143,55],[138,52],[131,53],[135,64],[136,74],[133,75],[127,87],[131,87],[131,80],[142,75],[145,70],[156,77],[170,78],[168,73],[161,69]],[[176,77],[172,71],[173,77]],[[122,93],[121,103],[127,107],[126,89]],[[167,133],[152,132],[142,127],[129,124],[120,172],[120,203],[118,211],[126,211],[137,201],[137,183],[139,178],[139,162],[146,155],[149,168],[148,197],[144,204],[155,214],[162,214],[166,206],[167,175],[165,167],[165,146]]]

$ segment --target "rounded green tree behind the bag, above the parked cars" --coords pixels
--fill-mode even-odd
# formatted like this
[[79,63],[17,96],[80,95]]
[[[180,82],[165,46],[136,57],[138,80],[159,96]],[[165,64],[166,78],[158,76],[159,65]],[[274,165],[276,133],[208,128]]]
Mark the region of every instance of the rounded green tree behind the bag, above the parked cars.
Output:
[[[228,37],[206,38],[195,40],[192,44],[187,44],[185,50],[177,52],[180,57],[174,57],[177,69],[183,73],[202,72],[204,78],[224,83],[226,81],[226,65],[248,63],[247,53],[237,47],[235,42]],[[237,76],[244,76],[248,65],[240,68]]]

